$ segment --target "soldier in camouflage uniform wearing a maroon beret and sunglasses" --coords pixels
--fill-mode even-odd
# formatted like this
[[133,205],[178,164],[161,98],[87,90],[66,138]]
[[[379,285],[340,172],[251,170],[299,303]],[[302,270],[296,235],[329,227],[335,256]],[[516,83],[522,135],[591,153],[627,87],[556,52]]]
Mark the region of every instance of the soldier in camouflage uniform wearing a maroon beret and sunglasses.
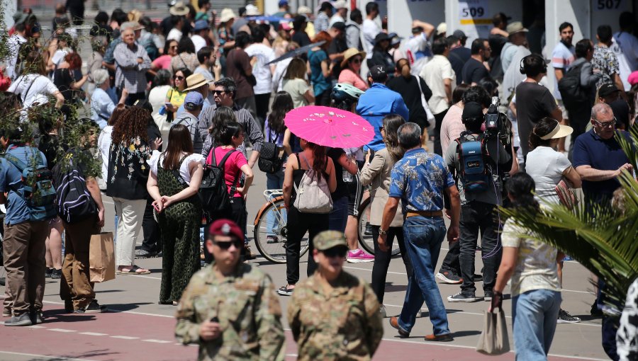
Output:
[[198,360],[284,360],[284,328],[274,285],[240,263],[244,233],[234,222],[211,224],[206,247],[215,260],[196,273],[177,306],[175,336],[199,344]]

